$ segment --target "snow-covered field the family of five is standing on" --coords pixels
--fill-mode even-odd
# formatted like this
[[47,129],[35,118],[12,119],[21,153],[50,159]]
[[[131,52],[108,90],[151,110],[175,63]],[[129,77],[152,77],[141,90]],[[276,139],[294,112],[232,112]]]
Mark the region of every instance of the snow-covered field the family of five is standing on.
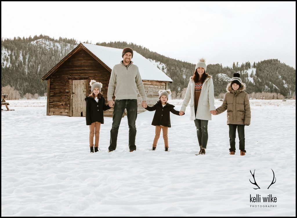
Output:
[[[85,117],[46,116],[46,100],[8,102],[15,111],[1,112],[1,216],[296,216],[296,100],[250,100],[246,156],[237,133],[236,155],[228,154],[226,112],[208,123],[205,156],[194,155],[189,107],[170,116],[169,152],[162,136],[151,151],[154,112],[146,111],[136,120],[136,151],[124,117],[117,149],[107,152],[105,117],[101,151],[89,153]],[[181,102],[170,101],[176,110]],[[276,182],[267,189],[271,169]],[[257,195],[261,201],[250,202]],[[263,202],[268,195],[276,202]]]

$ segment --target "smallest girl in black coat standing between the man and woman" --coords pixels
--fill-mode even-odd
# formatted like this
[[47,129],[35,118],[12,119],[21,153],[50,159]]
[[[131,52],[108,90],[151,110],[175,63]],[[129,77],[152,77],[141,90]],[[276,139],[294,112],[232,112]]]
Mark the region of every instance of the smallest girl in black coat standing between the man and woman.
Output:
[[156,126],[156,135],[153,142],[153,148],[151,150],[156,150],[157,142],[162,129],[165,151],[168,151],[168,127],[171,127],[170,112],[175,115],[179,115],[179,111],[173,109],[175,106],[167,103],[168,95],[170,94],[170,90],[159,90],[159,101],[154,106],[147,106],[145,108],[148,111],[156,110],[153,122],[151,123],[151,125]]

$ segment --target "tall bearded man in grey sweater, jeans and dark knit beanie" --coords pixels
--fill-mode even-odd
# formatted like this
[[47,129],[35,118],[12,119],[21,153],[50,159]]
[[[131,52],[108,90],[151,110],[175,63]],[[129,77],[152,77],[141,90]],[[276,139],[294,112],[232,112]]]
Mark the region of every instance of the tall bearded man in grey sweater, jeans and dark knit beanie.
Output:
[[[136,150],[135,137],[137,118],[137,89],[142,98],[141,106],[146,107],[146,93],[140,77],[138,67],[131,61],[133,57],[132,48],[124,48],[122,52],[123,60],[115,65],[111,71],[111,76],[107,90],[108,105],[113,107],[113,123],[110,130],[110,145],[108,152],[116,150],[119,126],[124,110],[127,109],[127,119],[129,126],[129,150]],[[116,96],[115,102],[112,99]]]

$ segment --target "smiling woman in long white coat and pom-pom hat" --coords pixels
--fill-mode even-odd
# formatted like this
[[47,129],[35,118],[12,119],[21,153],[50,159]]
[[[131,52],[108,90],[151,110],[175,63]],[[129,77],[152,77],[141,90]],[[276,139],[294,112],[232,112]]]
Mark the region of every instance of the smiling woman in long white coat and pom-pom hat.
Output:
[[217,111],[214,106],[214,84],[211,76],[206,73],[206,63],[204,59],[200,59],[196,64],[195,72],[190,78],[179,112],[180,115],[184,115],[184,111],[190,100],[190,120],[194,120],[195,122],[200,147],[198,154],[205,154],[208,141],[208,120],[211,120],[211,114],[215,115]]

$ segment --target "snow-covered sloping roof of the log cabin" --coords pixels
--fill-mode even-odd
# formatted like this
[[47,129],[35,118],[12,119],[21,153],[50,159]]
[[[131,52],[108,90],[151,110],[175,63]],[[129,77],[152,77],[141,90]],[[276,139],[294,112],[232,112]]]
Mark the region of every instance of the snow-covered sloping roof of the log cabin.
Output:
[[[105,46],[97,46],[87,43],[82,43],[89,51],[91,51],[96,57],[98,57],[102,62],[104,62],[110,69],[113,66],[119,64],[122,58],[123,49],[110,48]],[[142,80],[156,80],[156,81],[169,81],[173,82],[169,76],[159,70],[154,64],[152,64],[148,59],[143,57],[141,54],[133,51],[133,64],[138,66],[139,73]]]

